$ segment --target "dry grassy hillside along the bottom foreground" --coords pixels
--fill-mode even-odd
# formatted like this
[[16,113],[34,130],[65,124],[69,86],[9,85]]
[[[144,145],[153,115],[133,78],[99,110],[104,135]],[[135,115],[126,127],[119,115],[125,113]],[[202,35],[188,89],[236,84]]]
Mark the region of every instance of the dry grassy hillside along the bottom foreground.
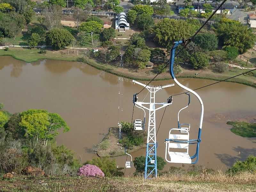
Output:
[[167,174],[157,179],[144,180],[143,177],[81,178],[81,177],[33,177],[15,175],[11,180],[0,181],[1,192],[127,192],[127,191],[256,191],[256,174],[243,173],[227,177],[221,172],[200,175]]

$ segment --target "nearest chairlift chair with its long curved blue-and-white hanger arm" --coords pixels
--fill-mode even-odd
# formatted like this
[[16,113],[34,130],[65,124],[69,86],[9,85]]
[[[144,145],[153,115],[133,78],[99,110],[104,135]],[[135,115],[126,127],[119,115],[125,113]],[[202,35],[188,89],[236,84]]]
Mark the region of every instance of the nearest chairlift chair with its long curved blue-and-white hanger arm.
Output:
[[[188,131],[190,129],[190,124],[179,124],[179,122],[178,122],[178,129],[177,128],[171,129],[169,131],[168,139],[165,139],[165,160],[169,163],[195,164],[198,161],[199,145],[201,142],[201,131],[202,131],[202,124],[203,124],[203,116],[204,116],[204,104],[203,104],[203,101],[200,98],[200,96],[195,91],[180,84],[180,82],[174,76],[173,64],[174,64],[174,57],[175,57],[175,49],[179,44],[182,44],[182,43],[183,43],[183,41],[174,42],[174,45],[171,50],[170,73],[171,73],[172,79],[174,80],[174,82],[177,85],[179,85],[181,88],[187,90],[188,92],[194,94],[196,96],[196,98],[198,99],[198,101],[200,102],[201,116],[200,116],[199,130],[198,130],[198,138],[189,140],[189,132]],[[187,108],[187,107],[185,107],[185,108]],[[182,108],[182,109],[184,109],[184,108]],[[178,116],[179,116],[179,114],[178,114]],[[183,127],[183,125],[188,125],[188,127],[187,126]],[[196,144],[196,153],[193,156],[189,156],[189,153],[188,153],[188,148],[189,148],[190,144]],[[167,154],[168,154],[170,160],[168,160]],[[195,161],[192,162],[192,159],[195,159]]]

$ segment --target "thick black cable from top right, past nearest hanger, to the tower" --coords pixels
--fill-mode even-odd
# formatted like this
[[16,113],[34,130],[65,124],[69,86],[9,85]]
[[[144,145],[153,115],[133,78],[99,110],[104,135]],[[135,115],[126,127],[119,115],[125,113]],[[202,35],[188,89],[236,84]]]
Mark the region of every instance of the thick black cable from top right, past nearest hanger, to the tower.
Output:
[[[196,33],[191,37],[191,38],[189,38],[188,40],[185,40],[185,44],[184,44],[184,46],[180,49],[180,51],[178,51],[177,53],[176,53],[176,55],[175,55],[175,57],[177,57],[177,55],[183,50],[183,49],[185,49],[185,47],[195,38],[195,36],[201,31],[201,29],[207,24],[207,22],[212,18],[212,16],[221,8],[221,6],[226,2],[227,0],[224,0],[224,1],[222,1],[222,3],[219,5],[219,7],[211,14],[211,16],[204,22],[204,24],[196,31]],[[171,57],[171,56],[170,56]],[[157,74],[156,74],[156,76],[153,78],[153,79],[151,79],[150,81],[149,81],[149,83],[145,86],[145,87],[143,87],[143,89],[140,91],[140,92],[142,92],[152,81],[154,81],[154,79],[160,74],[160,73],[162,73],[162,71],[167,67],[169,65],[169,63],[167,63],[165,66],[164,66],[164,68],[162,68]],[[137,94],[140,94],[140,92],[138,92]]]

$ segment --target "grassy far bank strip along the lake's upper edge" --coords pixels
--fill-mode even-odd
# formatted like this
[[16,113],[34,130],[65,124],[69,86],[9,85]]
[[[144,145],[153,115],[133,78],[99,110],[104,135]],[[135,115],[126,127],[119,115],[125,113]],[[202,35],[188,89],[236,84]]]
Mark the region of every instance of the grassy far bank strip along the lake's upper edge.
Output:
[[[23,48],[12,48],[8,51],[0,50],[0,56],[11,56],[16,60],[21,60],[24,62],[36,62],[38,60],[63,60],[63,61],[73,61],[73,62],[83,62],[86,63],[94,68],[97,68],[99,70],[111,73],[116,76],[121,76],[128,79],[133,80],[140,80],[140,81],[150,81],[156,74],[148,74],[146,75],[147,69],[131,69],[131,68],[118,68],[109,64],[102,64],[98,63],[97,61],[93,59],[87,59],[87,61],[82,58],[82,55],[76,55],[73,54],[71,56],[67,56],[67,54],[63,54],[65,50],[62,50],[63,52],[57,52],[57,51],[47,51],[49,53],[47,54],[40,54],[37,51],[39,49],[23,49]],[[28,54],[31,55],[33,53],[33,57],[29,60],[28,57],[26,57]],[[25,56],[25,57],[24,57]],[[144,72],[146,71],[146,72]],[[149,70],[148,70],[149,71]],[[244,72],[246,70],[241,71]],[[144,72],[144,73],[143,73]],[[236,73],[213,73],[208,70],[188,70],[183,69],[183,73],[180,75],[177,75],[177,78],[199,78],[199,79],[209,79],[214,81],[220,81],[223,79],[226,79],[230,76],[237,75]],[[233,78],[232,80],[227,80],[226,82],[233,82],[233,83],[239,83],[244,84],[248,86],[252,86],[256,88],[256,78],[253,80],[254,77],[249,78],[248,76],[239,76],[236,78]],[[172,79],[171,76],[169,76],[169,73],[162,73],[159,74],[155,81],[163,81],[163,80],[170,80]]]

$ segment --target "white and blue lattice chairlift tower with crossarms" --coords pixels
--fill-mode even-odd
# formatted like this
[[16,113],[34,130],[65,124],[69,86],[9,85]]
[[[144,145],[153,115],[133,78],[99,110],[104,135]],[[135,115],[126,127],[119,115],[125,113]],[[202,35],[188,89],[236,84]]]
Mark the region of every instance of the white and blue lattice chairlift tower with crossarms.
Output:
[[[146,162],[145,162],[145,173],[144,178],[150,179],[153,177],[157,177],[157,162],[156,162],[156,110],[167,107],[172,104],[171,96],[168,98],[166,103],[156,103],[155,97],[156,92],[162,90],[166,87],[172,87],[174,84],[158,86],[158,87],[151,87],[140,82],[132,80],[133,83],[139,84],[145,87],[148,92],[150,92],[150,102],[139,102],[135,101],[134,105],[139,108],[144,108],[149,111],[149,118],[148,118],[148,138],[147,138],[147,151],[146,151]],[[149,105],[149,108],[145,107],[144,105]],[[156,105],[162,105],[156,108]]]

